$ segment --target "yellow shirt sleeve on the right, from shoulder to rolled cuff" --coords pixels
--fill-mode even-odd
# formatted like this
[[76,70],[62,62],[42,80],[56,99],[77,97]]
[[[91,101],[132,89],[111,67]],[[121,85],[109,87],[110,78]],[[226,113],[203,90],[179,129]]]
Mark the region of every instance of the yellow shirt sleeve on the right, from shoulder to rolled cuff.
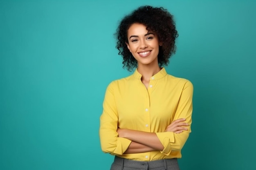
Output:
[[192,98],[193,85],[187,80],[187,82],[184,84],[173,120],[186,118],[186,121],[184,122],[189,124],[189,126],[186,126],[188,130],[184,130],[179,134],[174,132],[157,132],[157,137],[164,146],[164,150],[161,151],[162,154],[170,155],[172,150],[180,151],[188,139],[189,133],[191,132],[192,123]]

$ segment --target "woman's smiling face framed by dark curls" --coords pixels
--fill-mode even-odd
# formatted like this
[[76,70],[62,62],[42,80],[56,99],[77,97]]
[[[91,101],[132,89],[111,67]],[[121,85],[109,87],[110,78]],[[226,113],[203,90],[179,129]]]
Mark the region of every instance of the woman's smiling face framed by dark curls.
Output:
[[132,24],[128,29],[128,49],[138,62],[138,67],[148,64],[158,66],[159,40],[157,35],[146,30],[143,24]]

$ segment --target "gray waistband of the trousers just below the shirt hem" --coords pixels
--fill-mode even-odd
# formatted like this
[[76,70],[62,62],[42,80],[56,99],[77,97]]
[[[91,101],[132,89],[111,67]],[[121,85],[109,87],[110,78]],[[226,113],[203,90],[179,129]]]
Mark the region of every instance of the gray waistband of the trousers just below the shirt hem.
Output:
[[178,163],[177,158],[173,159],[162,159],[157,161],[134,161],[130,159],[124,159],[115,156],[114,163],[117,163],[123,167],[129,168],[141,168],[141,169],[153,169],[153,168],[164,168],[167,170],[167,166],[175,165]]

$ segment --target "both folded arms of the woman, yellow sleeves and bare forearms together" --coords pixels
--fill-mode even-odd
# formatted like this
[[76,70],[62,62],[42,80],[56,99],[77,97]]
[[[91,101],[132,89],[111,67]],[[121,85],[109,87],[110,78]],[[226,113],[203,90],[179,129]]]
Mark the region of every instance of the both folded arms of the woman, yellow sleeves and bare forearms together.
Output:
[[[112,155],[124,153],[141,153],[159,150],[169,155],[172,150],[181,150],[191,132],[193,85],[188,81],[184,84],[178,102],[174,120],[165,132],[143,132],[129,129],[118,129],[118,115],[115,106],[113,86],[107,88],[101,115],[100,140],[103,152]],[[185,118],[183,120],[181,118]],[[186,126],[186,127],[184,127]],[[186,129],[187,128],[187,129]]]

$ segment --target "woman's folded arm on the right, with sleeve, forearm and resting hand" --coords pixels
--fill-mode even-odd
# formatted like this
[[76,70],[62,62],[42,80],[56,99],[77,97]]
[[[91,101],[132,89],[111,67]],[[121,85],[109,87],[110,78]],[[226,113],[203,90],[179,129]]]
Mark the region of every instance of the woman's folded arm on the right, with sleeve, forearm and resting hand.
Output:
[[[169,155],[172,150],[181,150],[191,132],[193,85],[184,84],[177,105],[174,120],[165,132],[143,132],[130,129],[118,129],[119,137],[135,141]],[[129,149],[129,147],[128,147]]]

